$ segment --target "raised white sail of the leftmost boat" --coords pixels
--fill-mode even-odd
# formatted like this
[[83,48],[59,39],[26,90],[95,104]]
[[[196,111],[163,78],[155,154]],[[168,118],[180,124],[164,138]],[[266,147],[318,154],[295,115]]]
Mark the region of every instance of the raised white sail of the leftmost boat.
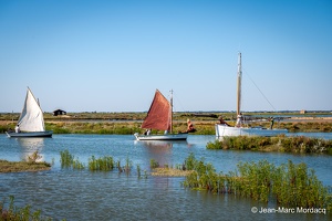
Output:
[[19,118],[20,129],[22,131],[44,131],[44,117],[39,103],[28,87],[23,110]]

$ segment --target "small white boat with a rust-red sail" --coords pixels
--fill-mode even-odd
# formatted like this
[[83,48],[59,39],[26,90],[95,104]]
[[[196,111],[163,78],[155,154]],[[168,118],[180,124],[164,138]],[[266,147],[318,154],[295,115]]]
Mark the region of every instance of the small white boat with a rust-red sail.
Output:
[[146,118],[142,124],[142,128],[164,130],[160,135],[151,135],[146,133],[139,135],[135,133],[134,136],[137,140],[186,140],[187,133],[173,134],[173,97],[168,102],[165,96],[156,90],[153,103],[149,107]]

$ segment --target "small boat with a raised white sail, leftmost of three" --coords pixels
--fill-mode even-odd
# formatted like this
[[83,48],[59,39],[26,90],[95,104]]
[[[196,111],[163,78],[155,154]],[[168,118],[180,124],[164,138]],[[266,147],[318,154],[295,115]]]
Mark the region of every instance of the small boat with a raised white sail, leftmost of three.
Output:
[[28,87],[23,110],[17,131],[7,131],[8,137],[52,137],[52,130],[45,130],[43,110]]

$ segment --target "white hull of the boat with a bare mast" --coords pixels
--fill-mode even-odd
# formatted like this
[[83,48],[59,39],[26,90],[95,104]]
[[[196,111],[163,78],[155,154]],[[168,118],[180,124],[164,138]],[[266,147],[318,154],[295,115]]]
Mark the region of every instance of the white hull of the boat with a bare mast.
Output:
[[217,124],[216,125],[216,136],[227,137],[227,136],[262,136],[272,137],[280,134],[287,134],[287,129],[267,129],[267,128],[250,128],[250,127],[229,127],[227,125]]

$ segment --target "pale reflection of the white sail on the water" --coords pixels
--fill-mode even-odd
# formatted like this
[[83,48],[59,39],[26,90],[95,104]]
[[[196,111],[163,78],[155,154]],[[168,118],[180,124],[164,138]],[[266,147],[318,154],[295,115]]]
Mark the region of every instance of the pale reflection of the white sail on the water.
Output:
[[44,160],[44,155],[42,154],[42,149],[44,147],[44,139],[45,138],[15,138],[18,141],[19,146],[21,147],[20,151],[20,159],[21,160],[28,160],[29,156],[31,156],[33,152],[38,151],[39,155],[41,156],[40,159],[37,161],[45,161]]

